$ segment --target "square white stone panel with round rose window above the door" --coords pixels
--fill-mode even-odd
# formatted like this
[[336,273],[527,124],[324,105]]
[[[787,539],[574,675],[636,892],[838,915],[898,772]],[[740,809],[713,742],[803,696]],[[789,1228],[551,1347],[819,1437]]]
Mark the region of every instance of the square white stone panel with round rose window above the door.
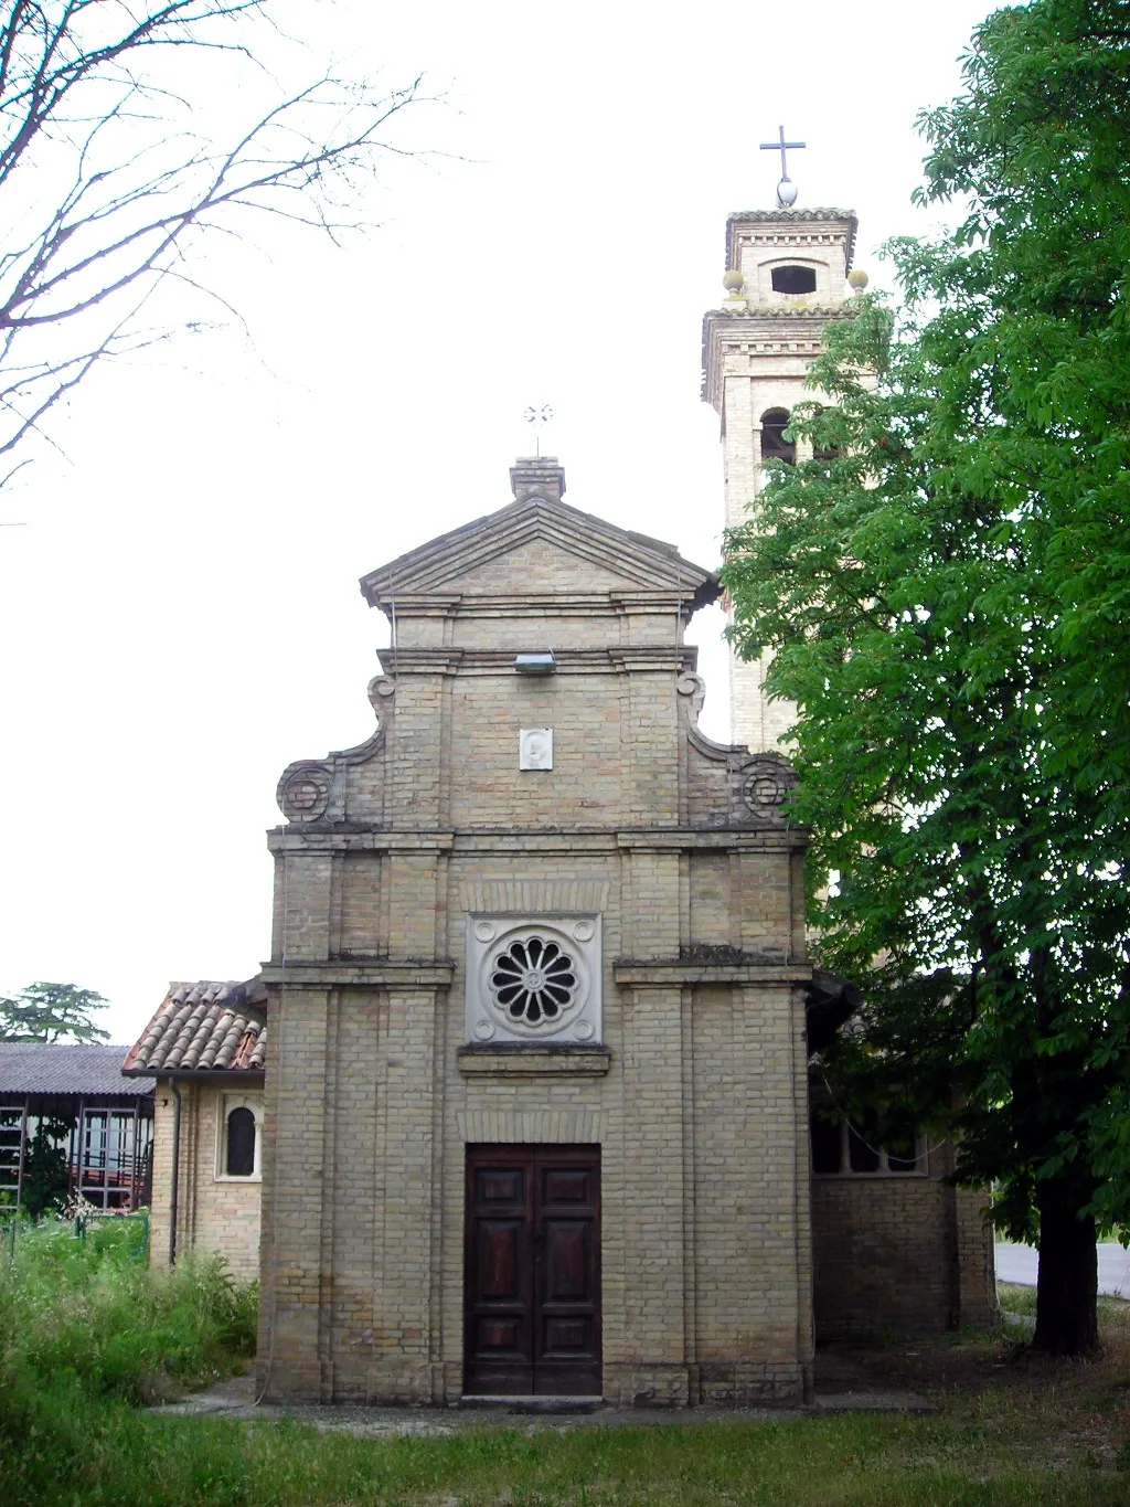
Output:
[[469,916],[467,1041],[598,1044],[600,916]]

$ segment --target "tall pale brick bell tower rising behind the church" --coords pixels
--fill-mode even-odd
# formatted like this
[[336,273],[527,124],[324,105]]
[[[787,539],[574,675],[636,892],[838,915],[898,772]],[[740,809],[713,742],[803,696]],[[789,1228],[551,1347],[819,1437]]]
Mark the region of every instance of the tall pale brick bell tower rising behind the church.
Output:
[[[824,326],[866,285],[851,271],[854,243],[848,209],[750,209],[726,222],[726,298],[702,321],[702,399],[722,420],[728,529],[747,518],[764,461],[808,458],[783,431],[794,404],[820,396],[805,383]],[[731,650],[731,740],[753,752],[777,749],[793,723],[789,704],[765,698],[764,678],[764,660]]]

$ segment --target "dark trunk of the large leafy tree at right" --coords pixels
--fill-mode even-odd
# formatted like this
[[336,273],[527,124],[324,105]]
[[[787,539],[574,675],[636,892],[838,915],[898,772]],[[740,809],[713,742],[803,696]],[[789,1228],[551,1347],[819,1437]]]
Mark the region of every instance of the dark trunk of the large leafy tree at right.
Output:
[[1032,1347],[1047,1355],[1086,1355],[1098,1344],[1095,1222],[1080,1219],[1077,1204],[1064,1189],[1047,1188],[1037,1195],[1040,1266]]

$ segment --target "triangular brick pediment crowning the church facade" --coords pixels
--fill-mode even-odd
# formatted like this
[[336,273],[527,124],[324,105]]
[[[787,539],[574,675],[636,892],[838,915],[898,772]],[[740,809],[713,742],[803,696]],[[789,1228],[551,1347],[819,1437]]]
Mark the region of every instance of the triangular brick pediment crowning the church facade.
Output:
[[704,606],[713,571],[672,544],[616,527],[565,502],[527,497],[422,544],[362,577],[371,606],[398,597],[672,592]]

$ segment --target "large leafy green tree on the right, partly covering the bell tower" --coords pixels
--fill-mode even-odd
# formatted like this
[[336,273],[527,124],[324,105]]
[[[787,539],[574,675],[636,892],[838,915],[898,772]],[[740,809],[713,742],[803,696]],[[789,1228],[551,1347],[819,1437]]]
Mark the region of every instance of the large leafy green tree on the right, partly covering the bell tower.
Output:
[[774,464],[723,576],[799,707],[820,952],[866,996],[830,1065],[960,1138],[1038,1236],[1035,1346],[1077,1353],[1130,1219],[1127,6],[999,11],[964,84],[919,190],[964,217],[889,247],[898,316],[829,327],[793,431],[835,454]]

